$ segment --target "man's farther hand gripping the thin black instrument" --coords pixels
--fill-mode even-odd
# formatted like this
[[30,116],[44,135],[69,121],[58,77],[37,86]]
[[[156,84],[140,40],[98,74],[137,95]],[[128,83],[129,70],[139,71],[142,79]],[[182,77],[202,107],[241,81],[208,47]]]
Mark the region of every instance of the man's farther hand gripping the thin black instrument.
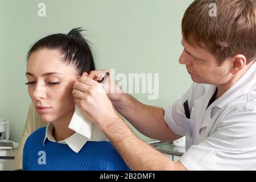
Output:
[[[96,70],[91,71],[89,73],[89,78],[92,80],[101,80],[105,74],[109,72],[108,70]],[[110,73],[110,72],[109,72]],[[105,89],[105,92],[108,94],[109,99],[112,102],[118,101],[122,97],[122,89],[119,87],[117,82],[115,81],[115,78],[109,75],[108,80],[104,82],[103,88]]]

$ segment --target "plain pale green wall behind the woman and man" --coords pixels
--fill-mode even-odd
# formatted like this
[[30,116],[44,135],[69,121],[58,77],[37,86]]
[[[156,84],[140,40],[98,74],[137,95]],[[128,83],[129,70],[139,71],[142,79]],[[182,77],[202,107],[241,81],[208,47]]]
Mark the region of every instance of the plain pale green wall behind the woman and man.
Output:
[[[46,17],[38,4],[46,4]],[[133,94],[144,104],[167,107],[190,86],[179,64],[181,19],[192,0],[0,0],[0,116],[11,122],[19,142],[30,98],[24,85],[26,53],[43,36],[71,28],[87,30],[98,69],[116,73],[159,73],[159,98]],[[145,126],[146,127],[146,126]],[[144,137],[135,131],[139,137]]]

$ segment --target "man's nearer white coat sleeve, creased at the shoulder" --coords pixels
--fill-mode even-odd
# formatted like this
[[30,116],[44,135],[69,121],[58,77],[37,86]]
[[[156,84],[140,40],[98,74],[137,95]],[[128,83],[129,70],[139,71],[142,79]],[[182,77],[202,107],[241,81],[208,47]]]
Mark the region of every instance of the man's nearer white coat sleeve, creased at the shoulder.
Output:
[[188,170],[255,170],[256,111],[232,114],[180,158]]

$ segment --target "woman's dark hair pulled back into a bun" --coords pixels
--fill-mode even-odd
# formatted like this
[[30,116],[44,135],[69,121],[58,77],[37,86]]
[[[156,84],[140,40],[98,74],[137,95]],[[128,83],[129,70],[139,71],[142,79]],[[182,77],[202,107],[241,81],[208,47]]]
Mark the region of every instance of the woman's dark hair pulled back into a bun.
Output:
[[89,73],[95,70],[92,51],[88,41],[82,37],[80,28],[73,28],[66,34],[53,34],[38,40],[27,53],[27,60],[32,52],[39,49],[57,49],[61,52],[61,60],[67,61],[67,64],[75,65],[77,75]]

